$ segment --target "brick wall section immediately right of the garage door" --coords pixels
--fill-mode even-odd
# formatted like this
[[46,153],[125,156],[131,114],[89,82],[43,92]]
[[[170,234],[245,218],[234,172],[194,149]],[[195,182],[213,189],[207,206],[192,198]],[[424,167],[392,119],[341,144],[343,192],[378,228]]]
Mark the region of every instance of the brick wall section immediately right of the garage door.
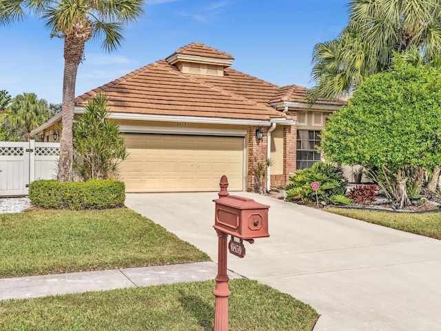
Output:
[[[256,138],[256,129],[260,128],[263,132],[263,139]],[[247,191],[254,192],[254,166],[255,159],[258,162],[265,162],[267,157],[268,127],[249,126],[248,127],[248,168],[247,168]],[[266,186],[266,181],[263,183]]]

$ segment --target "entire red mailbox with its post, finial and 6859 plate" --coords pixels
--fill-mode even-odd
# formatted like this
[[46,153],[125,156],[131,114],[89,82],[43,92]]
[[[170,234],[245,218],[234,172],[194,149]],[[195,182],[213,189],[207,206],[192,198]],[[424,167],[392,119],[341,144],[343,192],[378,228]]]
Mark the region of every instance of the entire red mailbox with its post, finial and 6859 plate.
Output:
[[[228,179],[225,175],[220,178],[219,199],[216,203],[214,229],[218,235],[218,274],[216,288],[213,291],[216,297],[214,308],[214,331],[228,331],[228,289],[227,275],[227,239],[229,252],[245,257],[243,241],[254,243],[255,238],[269,237],[268,209],[269,205],[257,203],[253,199],[230,196],[227,192]],[[239,241],[234,241],[234,237]]]

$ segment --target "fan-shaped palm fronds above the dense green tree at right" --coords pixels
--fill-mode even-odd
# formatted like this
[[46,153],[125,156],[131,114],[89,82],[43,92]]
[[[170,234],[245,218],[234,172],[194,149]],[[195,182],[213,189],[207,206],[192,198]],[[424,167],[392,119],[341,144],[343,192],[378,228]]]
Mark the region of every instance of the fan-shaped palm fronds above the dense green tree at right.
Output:
[[440,63],[441,1],[353,0],[340,36],[314,47],[312,102],[350,93],[391,66],[393,54],[413,63]]

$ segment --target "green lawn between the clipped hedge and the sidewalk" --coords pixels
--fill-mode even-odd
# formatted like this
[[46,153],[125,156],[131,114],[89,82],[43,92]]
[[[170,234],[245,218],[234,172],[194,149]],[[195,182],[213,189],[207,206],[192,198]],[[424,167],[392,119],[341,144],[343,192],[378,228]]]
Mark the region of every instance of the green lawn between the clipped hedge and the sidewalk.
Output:
[[127,209],[0,215],[0,278],[210,261]]

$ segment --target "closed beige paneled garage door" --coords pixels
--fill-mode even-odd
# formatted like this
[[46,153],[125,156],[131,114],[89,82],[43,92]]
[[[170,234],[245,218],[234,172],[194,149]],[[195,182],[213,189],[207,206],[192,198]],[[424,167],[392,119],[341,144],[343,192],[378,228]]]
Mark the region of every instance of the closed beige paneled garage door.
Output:
[[129,157],[121,164],[126,192],[243,190],[243,137],[125,134]]

